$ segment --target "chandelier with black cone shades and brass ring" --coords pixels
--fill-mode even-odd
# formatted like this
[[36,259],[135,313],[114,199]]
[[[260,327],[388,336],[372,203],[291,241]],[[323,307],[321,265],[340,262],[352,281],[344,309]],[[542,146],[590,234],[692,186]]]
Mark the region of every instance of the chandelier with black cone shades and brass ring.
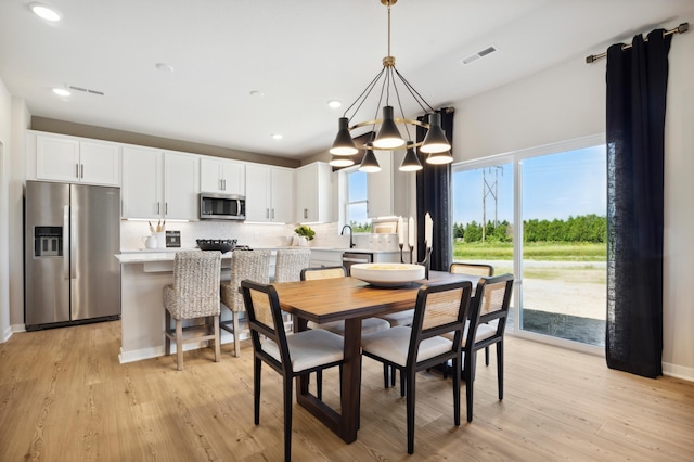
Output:
[[[354,165],[351,158],[359,150],[367,150],[363,156],[360,170],[372,172],[381,170],[373,150],[406,150],[406,155],[400,165],[402,171],[416,171],[422,169],[422,164],[414,152],[419,149],[421,153],[428,154],[427,164],[448,164],[453,161],[450,153],[451,144],[441,128],[441,115],[436,112],[424,98],[412,87],[412,85],[395,67],[395,56],[390,55],[390,7],[398,0],[381,0],[381,3],[388,9],[388,55],[383,59],[383,69],[369,82],[361,94],[352,102],[338,119],[338,130],[330,153],[332,154],[330,164],[337,167]],[[351,119],[357,115],[362,105],[367,102],[374,88],[381,87],[381,95],[376,105],[374,118],[350,125]],[[422,111],[427,114],[428,121],[407,118],[402,110],[403,95],[410,95]],[[394,103],[390,103],[393,99]],[[382,102],[382,117],[378,118],[378,106]],[[394,107],[395,104],[395,107]],[[396,114],[396,108],[398,114]],[[352,139],[351,131],[361,127],[371,126],[371,140],[364,145],[357,146]],[[406,137],[402,137],[400,126]],[[416,127],[426,129],[426,134],[421,142],[412,140],[410,130],[416,133]]]

